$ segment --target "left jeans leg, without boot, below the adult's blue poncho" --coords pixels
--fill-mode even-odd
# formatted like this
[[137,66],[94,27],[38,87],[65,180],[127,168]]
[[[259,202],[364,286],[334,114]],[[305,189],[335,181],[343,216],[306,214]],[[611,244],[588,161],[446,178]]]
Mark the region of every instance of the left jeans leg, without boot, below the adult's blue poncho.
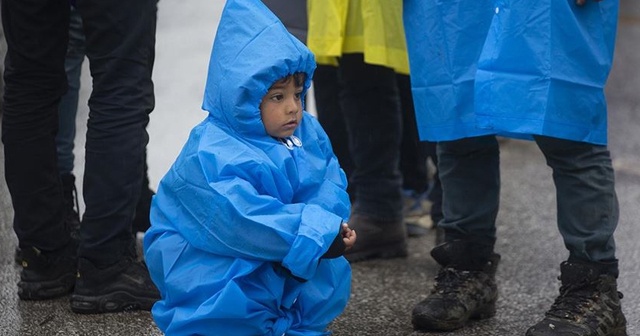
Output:
[[[446,241],[472,239],[493,250],[500,202],[500,152],[495,136],[437,145]],[[486,256],[488,258],[488,255]]]

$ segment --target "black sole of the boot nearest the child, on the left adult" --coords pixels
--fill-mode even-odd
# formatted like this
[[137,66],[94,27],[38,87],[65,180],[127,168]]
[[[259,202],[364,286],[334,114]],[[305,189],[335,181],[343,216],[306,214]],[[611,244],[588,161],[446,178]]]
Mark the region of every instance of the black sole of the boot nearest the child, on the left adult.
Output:
[[113,292],[107,295],[71,295],[71,311],[78,314],[116,313],[133,310],[150,311],[158,298],[139,297],[127,292]]

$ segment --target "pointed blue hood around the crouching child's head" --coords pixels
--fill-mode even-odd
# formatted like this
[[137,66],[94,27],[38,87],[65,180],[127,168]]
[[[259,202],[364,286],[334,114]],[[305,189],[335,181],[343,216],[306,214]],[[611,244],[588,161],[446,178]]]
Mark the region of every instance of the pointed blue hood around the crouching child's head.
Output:
[[304,72],[304,98],[315,66],[311,51],[262,1],[228,1],[213,43],[202,108],[220,127],[266,137],[262,97],[276,80]]

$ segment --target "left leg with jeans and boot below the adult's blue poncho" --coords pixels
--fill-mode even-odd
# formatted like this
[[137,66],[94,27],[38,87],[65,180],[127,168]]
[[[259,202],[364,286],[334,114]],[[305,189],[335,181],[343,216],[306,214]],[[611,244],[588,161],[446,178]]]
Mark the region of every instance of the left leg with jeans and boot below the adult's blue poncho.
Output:
[[495,314],[500,167],[494,136],[443,141],[437,149],[445,243],[431,250],[441,268],[431,294],[413,309],[412,323],[446,331]]

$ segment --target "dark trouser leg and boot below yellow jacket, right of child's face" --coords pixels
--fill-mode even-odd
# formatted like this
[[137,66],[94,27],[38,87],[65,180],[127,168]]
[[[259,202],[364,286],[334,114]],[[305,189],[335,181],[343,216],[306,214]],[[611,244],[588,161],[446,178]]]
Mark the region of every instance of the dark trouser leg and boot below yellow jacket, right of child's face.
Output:
[[358,244],[350,261],[407,255],[402,218],[399,149],[402,132],[396,74],[391,68],[366,64],[362,54],[340,59],[340,107],[349,135],[355,189],[350,225]]

